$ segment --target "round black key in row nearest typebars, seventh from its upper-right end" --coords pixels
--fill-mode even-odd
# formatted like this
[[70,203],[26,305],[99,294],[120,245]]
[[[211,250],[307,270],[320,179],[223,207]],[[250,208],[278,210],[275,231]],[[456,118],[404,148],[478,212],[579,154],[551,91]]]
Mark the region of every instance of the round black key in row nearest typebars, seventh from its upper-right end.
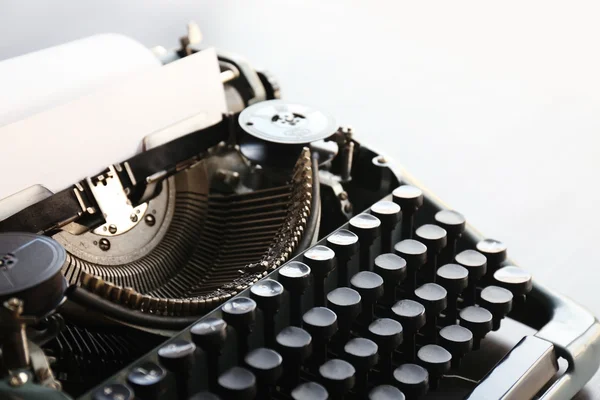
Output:
[[265,345],[275,345],[275,315],[281,306],[283,286],[273,279],[263,279],[250,287],[250,297],[263,312]]

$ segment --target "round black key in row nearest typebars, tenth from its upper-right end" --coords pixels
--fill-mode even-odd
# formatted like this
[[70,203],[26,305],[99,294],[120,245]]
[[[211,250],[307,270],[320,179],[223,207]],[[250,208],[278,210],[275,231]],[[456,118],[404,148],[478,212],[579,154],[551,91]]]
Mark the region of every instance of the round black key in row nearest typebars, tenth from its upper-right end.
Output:
[[194,364],[196,345],[183,339],[175,339],[158,349],[158,360],[175,375],[177,397],[187,399],[189,396],[189,378]]

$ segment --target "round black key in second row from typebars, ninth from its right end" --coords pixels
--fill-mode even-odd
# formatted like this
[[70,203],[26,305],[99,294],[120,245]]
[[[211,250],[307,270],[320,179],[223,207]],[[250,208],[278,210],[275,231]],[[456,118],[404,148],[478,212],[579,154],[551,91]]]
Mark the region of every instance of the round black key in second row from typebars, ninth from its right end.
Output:
[[256,377],[258,398],[271,398],[271,391],[283,373],[283,359],[279,353],[260,347],[248,353],[245,362]]

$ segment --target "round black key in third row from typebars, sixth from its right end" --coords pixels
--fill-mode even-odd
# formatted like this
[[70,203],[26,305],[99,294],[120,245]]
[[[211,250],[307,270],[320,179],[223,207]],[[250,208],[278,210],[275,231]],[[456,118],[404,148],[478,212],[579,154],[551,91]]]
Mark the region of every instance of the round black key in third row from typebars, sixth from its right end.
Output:
[[390,318],[379,318],[369,325],[369,336],[379,348],[381,374],[389,379],[392,374],[392,354],[402,344],[402,325]]

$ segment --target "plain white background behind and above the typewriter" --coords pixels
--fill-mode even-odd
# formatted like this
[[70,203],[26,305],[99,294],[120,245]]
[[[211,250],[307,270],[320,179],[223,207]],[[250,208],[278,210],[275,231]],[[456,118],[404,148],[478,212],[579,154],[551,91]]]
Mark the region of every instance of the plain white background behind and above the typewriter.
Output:
[[0,59],[99,32],[174,47],[196,20],[600,315],[599,2],[88,3],[0,3]]

